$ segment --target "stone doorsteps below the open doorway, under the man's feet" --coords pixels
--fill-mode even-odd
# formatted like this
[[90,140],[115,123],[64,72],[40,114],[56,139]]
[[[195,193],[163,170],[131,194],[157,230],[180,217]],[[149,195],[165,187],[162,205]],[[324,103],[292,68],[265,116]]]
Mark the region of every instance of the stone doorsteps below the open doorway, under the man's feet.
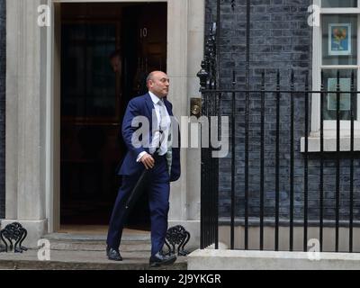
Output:
[[[28,249],[23,253],[0,253],[0,269],[25,270],[186,270],[186,257],[177,257],[171,266],[150,267],[150,235],[147,231],[124,231],[122,261],[108,260],[105,234],[52,233],[49,249]],[[45,240],[45,241],[46,241]]]

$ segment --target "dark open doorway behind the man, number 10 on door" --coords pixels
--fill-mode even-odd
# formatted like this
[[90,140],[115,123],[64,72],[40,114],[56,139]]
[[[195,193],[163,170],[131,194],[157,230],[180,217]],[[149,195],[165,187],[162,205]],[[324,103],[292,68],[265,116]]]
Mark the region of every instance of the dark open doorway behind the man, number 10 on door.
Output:
[[[126,153],[127,103],[166,72],[166,3],[61,4],[60,224],[107,225]],[[114,69],[111,55],[120,58]],[[148,229],[146,193],[128,227]]]

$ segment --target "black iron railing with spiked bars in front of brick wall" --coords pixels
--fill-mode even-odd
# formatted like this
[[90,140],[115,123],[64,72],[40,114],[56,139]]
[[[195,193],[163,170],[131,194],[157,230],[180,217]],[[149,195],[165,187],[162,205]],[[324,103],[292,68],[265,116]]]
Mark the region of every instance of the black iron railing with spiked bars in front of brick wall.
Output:
[[[200,76],[204,76],[205,73],[200,73]],[[301,218],[298,217],[296,219],[296,226],[302,227],[302,249],[303,251],[307,251],[308,249],[308,241],[309,241],[309,227],[318,226],[319,227],[319,241],[320,241],[320,251],[323,250],[324,244],[324,220],[326,216],[327,223],[331,223],[335,229],[335,247],[334,251],[339,251],[339,229],[341,226],[345,226],[348,228],[348,249],[347,251],[353,252],[354,248],[354,222],[355,220],[360,220],[359,207],[354,207],[355,201],[360,200],[355,198],[355,182],[359,181],[359,177],[355,175],[355,160],[359,159],[359,152],[355,148],[355,121],[356,121],[356,98],[359,91],[356,91],[355,88],[355,74],[353,73],[351,76],[351,88],[350,91],[340,91],[340,76],[338,73],[337,76],[337,89],[336,91],[326,91],[324,85],[324,77],[321,75],[321,89],[320,91],[311,91],[309,89],[309,81],[308,75],[305,76],[304,86],[302,90],[295,90],[295,81],[294,81],[294,72],[291,72],[289,89],[282,89],[280,85],[280,73],[277,71],[276,73],[276,85],[273,90],[266,90],[266,73],[265,71],[261,74],[261,85],[258,90],[237,90],[235,88],[229,90],[220,90],[212,88],[211,81],[204,81],[202,78],[202,113],[204,116],[224,116],[219,109],[220,103],[224,101],[223,99],[227,99],[228,103],[230,103],[231,112],[228,114],[229,122],[231,126],[231,133],[229,134],[229,142],[230,142],[230,151],[229,156],[231,160],[231,182],[230,186],[230,211],[229,211],[229,226],[230,226],[230,235],[229,235],[229,246],[231,249],[234,248],[244,248],[248,249],[249,244],[249,217],[251,216],[253,222],[254,220],[257,222],[255,226],[258,225],[259,229],[259,249],[264,249],[264,241],[265,241],[265,218],[268,220],[269,216],[270,225],[274,226],[274,250],[279,250],[279,242],[280,242],[280,233],[279,228],[281,226],[288,227],[289,230],[289,250],[293,251],[294,249],[294,202],[295,202],[295,186],[299,185],[299,179],[297,183],[295,183],[295,171],[299,173],[299,169],[302,169],[302,183],[300,183],[302,187],[302,193],[299,193],[299,189],[296,189],[297,196],[301,195],[302,198],[302,212],[300,213]],[[233,87],[235,87],[235,73],[233,73]],[[329,94],[336,94],[336,106],[337,106],[337,117],[336,117],[336,148],[329,152],[329,149],[326,151],[325,149],[325,130],[324,130],[324,99]],[[350,95],[350,145],[347,151],[344,151],[340,147],[340,103],[341,97],[344,94]],[[310,120],[311,120],[311,95],[320,96],[320,149],[316,152],[311,152],[309,150],[309,138],[310,138]],[[238,101],[240,99],[241,101]],[[253,102],[250,106],[249,100],[256,99],[257,101]],[[289,101],[290,99],[290,101]],[[245,100],[245,101],[244,101]],[[272,103],[272,106],[275,107],[274,110],[266,110],[266,103]],[[274,104],[275,103],[275,104]],[[289,107],[284,106],[284,103],[289,103]],[[244,107],[245,106],[245,107]],[[239,114],[238,107],[242,107],[244,109],[243,114]],[[284,118],[281,116],[281,108],[289,108],[290,115],[286,115],[287,121],[284,122]],[[284,109],[283,109],[284,110]],[[286,109],[285,109],[286,110]],[[260,121],[250,121],[251,114],[256,111],[260,111]],[[270,113],[269,113],[270,111]],[[296,118],[295,113],[299,114],[299,111],[302,113],[302,117],[299,116]],[[266,113],[267,112],[267,113]],[[275,115],[272,113],[275,112]],[[241,117],[239,119],[238,117]],[[266,119],[272,120],[274,129],[271,125],[267,125],[266,131]],[[283,119],[283,121],[282,121]],[[240,138],[236,137],[237,121],[243,121],[243,135],[244,139],[240,140]],[[257,139],[251,139],[249,132],[254,130],[254,125],[257,125],[260,130],[260,142],[257,143]],[[269,128],[270,127],[270,128]],[[242,128],[241,128],[242,129]],[[269,131],[270,130],[270,131]],[[285,134],[289,131],[288,140],[284,140],[284,131]],[[298,131],[297,133],[295,133]],[[300,133],[299,133],[300,131]],[[211,130],[209,133],[211,134]],[[296,134],[296,135],[295,135]],[[302,135],[302,136],[299,136]],[[299,151],[299,145],[301,142],[301,138],[303,137],[303,148],[302,152]],[[249,143],[257,143],[259,144],[258,149],[249,149]],[[284,144],[285,143],[285,144]],[[288,144],[286,144],[288,143]],[[290,146],[287,151],[282,151],[281,147],[284,148],[284,145]],[[236,188],[239,180],[237,178],[236,169],[238,167],[237,163],[237,153],[238,148],[241,150],[240,154],[243,151],[244,157],[241,159],[244,161],[244,177],[241,179],[243,182],[244,188],[242,191],[238,191]],[[275,183],[275,209],[274,209],[274,217],[271,217],[271,213],[269,214],[269,205],[265,205],[265,193],[266,193],[266,148],[275,148],[274,155],[275,161],[274,166],[270,166],[273,168],[275,173],[271,174],[273,177],[273,181]],[[217,179],[219,179],[219,158],[211,157],[211,152],[213,148],[202,148],[202,231],[201,231],[201,247],[207,247],[213,243],[218,243],[218,229],[219,229],[219,184]],[[251,159],[250,161],[250,152],[256,152],[259,154],[257,161],[255,159]],[[301,156],[300,160],[302,160],[299,165],[299,159],[296,159],[295,155],[298,154]],[[289,165],[286,167],[286,171],[288,173],[285,174],[286,179],[284,180],[284,164],[282,164],[282,173],[281,169],[281,161],[284,159],[288,159]],[[344,166],[340,165],[344,159],[349,159],[349,165]],[[297,162],[295,160],[298,160]],[[221,161],[221,159],[220,159]],[[316,175],[311,174],[314,173],[314,169],[310,172],[309,162],[317,163],[316,166],[319,167],[320,172],[316,173]],[[312,163],[311,162],[311,163]],[[327,166],[334,166],[335,173],[333,175],[329,175],[329,171],[327,171],[327,178],[333,176],[335,178],[335,184],[333,188],[328,187],[328,191],[326,190],[326,184],[324,181],[324,171],[325,171],[325,162]],[[256,164],[254,164],[256,163]],[[296,164],[297,163],[297,164]],[[313,166],[313,165],[312,165]],[[254,174],[254,169],[257,169],[259,183],[257,183],[257,191],[254,191],[253,188],[253,198],[258,198],[258,212],[257,209],[254,209],[254,204],[252,207],[249,205],[249,184],[254,187],[254,181],[249,182],[250,170]],[[318,169],[317,169],[318,170]],[[346,183],[341,182],[341,178],[344,176],[344,171],[347,171]],[[318,180],[314,180],[314,177],[317,177]],[[282,178],[282,179],[281,179]],[[297,178],[299,178],[297,176]],[[310,181],[314,183],[314,181],[319,181],[319,189],[314,191],[312,188],[311,191],[309,189]],[[280,192],[284,192],[284,188],[280,188],[281,185],[284,186],[284,182],[286,182],[286,186],[288,188],[289,195],[289,212],[281,216],[280,213]],[[317,182],[318,183],[318,182]],[[348,190],[348,191],[347,191]],[[335,193],[335,197],[325,197],[325,193],[327,192]],[[237,196],[242,200],[240,204],[237,202]],[[255,196],[254,196],[255,194]],[[328,198],[328,199],[327,199]],[[325,201],[328,202],[325,205]],[[334,211],[335,217],[331,217],[331,215],[325,215],[325,208],[329,210],[329,206],[331,207],[334,202]],[[284,203],[284,201],[282,201]],[[298,206],[299,206],[299,201]],[[311,202],[311,210],[317,209],[319,212],[317,213],[317,217],[314,216],[314,213],[309,213],[310,207],[309,203]],[[318,203],[318,207],[315,207],[313,202]],[[345,202],[342,203],[342,202]],[[348,202],[348,203],[347,203]],[[266,209],[267,206],[267,209]],[[283,205],[284,206],[284,205]],[[251,211],[250,211],[251,208]],[[342,211],[341,223],[340,223],[340,210]],[[347,211],[346,211],[347,210]],[[238,211],[242,211],[239,213]],[[357,211],[357,214],[355,214]],[[267,217],[266,217],[267,215]],[[310,223],[311,216],[311,223]],[[241,221],[241,226],[243,226],[243,235],[235,235],[236,228],[236,220]],[[269,222],[269,221],[267,221]],[[254,224],[252,224],[254,225]],[[235,247],[235,240],[238,237],[243,237],[243,246]],[[344,249],[343,249],[344,250]]]

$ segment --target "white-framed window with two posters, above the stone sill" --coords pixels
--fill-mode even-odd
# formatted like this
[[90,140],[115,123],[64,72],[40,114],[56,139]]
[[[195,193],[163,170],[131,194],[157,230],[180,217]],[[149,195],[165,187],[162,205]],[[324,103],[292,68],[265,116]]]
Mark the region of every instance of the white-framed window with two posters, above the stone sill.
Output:
[[[320,91],[321,73],[328,91],[337,90],[339,72],[340,90],[350,91],[351,77],[355,89],[360,86],[360,0],[314,0],[320,7],[320,26],[314,26],[313,33],[313,90]],[[336,135],[337,97],[328,93],[324,97],[323,119],[325,135]],[[320,131],[320,94],[312,96],[311,132]],[[356,134],[360,131],[360,101],[356,96]],[[340,94],[341,137],[350,133],[350,94]]]

